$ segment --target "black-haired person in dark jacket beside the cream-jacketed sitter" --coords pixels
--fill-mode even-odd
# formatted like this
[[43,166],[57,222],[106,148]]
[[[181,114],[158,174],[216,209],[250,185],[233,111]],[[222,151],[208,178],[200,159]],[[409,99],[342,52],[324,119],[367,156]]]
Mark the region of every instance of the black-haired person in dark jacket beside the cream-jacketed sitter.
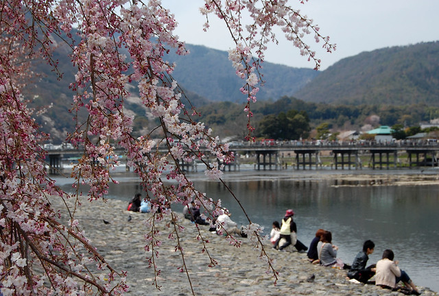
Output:
[[351,269],[348,271],[348,277],[366,284],[370,277],[375,275],[375,264],[366,267],[369,260],[369,255],[373,253],[375,243],[372,240],[366,240],[363,244],[363,250],[360,251],[354,258]]

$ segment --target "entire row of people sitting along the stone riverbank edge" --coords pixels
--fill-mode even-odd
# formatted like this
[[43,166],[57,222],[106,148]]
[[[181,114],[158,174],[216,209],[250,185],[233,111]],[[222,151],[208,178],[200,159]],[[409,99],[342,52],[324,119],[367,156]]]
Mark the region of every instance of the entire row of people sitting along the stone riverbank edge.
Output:
[[[128,206],[128,210],[134,212],[150,212],[150,208],[149,202],[141,199],[140,193],[134,196]],[[185,206],[183,214],[186,219],[191,220],[193,223],[211,225],[211,223],[202,219],[200,208],[196,206],[194,201]],[[247,235],[243,232],[242,227],[239,229],[237,223],[230,219],[230,215],[228,211],[224,211],[223,214],[215,217],[212,225],[215,225],[217,221],[217,227],[211,227],[209,231],[216,232],[217,234],[236,234],[246,237]],[[407,288],[407,290],[404,291],[412,295],[420,295],[416,285],[410,280],[409,275],[398,267],[397,260],[393,260],[394,253],[391,249],[385,249],[383,251],[382,259],[379,260],[377,264],[366,267],[369,255],[372,254],[375,249],[375,243],[373,243],[372,240],[366,240],[363,249],[355,256],[352,266],[349,266],[348,264],[344,264],[340,258],[337,258],[338,247],[332,244],[332,234],[327,230],[317,230],[316,236],[311,240],[309,248],[300,242],[297,238],[297,225],[293,220],[293,216],[294,211],[289,209],[285,212],[285,217],[281,220],[281,224],[279,224],[278,221],[273,222],[270,240],[274,249],[282,251],[292,245],[299,252],[308,251],[307,256],[309,262],[313,264],[347,269],[347,277],[351,280],[362,283],[372,283],[370,279],[375,275],[375,284],[377,286],[396,291],[396,284],[401,281]]]

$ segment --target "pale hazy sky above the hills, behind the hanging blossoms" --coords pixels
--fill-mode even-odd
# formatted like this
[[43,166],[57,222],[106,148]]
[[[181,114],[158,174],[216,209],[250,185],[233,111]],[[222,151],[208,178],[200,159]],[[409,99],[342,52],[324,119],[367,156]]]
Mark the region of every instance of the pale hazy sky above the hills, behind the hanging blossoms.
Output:
[[[163,0],[163,5],[176,15],[180,40],[213,49],[233,47],[223,23],[211,16],[211,28],[203,32],[205,21],[198,11],[202,0]],[[299,0],[289,1],[303,14],[313,18],[320,33],[337,44],[333,53],[320,51],[321,45],[312,43],[322,60],[322,70],[335,62],[362,51],[372,51],[396,45],[439,40],[438,0]],[[265,60],[287,66],[313,68],[313,62],[300,56],[298,49],[281,38],[279,45],[270,45]],[[320,51],[320,52],[319,52]]]

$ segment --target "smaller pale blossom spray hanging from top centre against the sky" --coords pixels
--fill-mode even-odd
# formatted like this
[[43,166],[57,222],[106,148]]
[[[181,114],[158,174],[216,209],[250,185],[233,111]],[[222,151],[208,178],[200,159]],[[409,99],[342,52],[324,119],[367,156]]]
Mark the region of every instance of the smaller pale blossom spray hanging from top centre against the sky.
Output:
[[[300,2],[303,4],[304,1]],[[307,45],[304,37],[313,34],[314,40],[316,42],[322,40],[322,47],[328,52],[336,48],[335,45],[329,43],[328,36],[322,36],[319,33],[319,27],[313,25],[311,18],[300,14],[300,10],[292,8],[287,0],[204,0],[204,6],[200,8],[200,12],[206,16],[205,30],[209,29],[209,15],[214,14],[226,23],[235,42],[236,46],[230,49],[228,58],[232,61],[238,77],[245,80],[241,93],[248,96],[248,103],[244,108],[248,116],[248,136],[246,137],[248,140],[252,138],[251,134],[254,131],[250,123],[252,117],[250,102],[256,102],[256,95],[259,91],[257,84],[263,84],[259,69],[261,69],[267,44],[278,43],[275,34],[276,27],[281,29],[285,38],[300,50],[302,56],[308,56],[308,60],[313,60],[316,70],[320,68],[321,61],[316,57],[316,51]]]

